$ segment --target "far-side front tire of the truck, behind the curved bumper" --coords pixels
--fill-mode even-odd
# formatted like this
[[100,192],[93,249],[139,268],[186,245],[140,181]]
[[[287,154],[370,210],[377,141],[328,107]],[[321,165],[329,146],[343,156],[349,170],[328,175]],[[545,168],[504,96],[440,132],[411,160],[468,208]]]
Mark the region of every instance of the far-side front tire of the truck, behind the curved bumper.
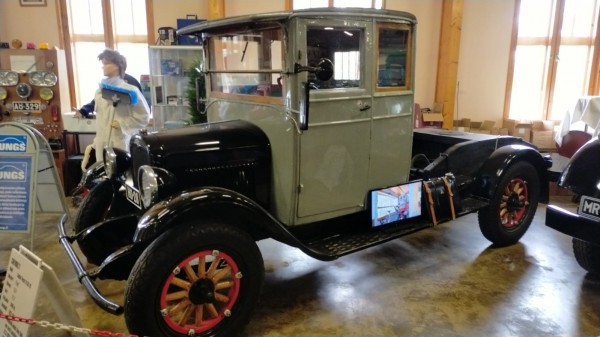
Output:
[[[99,181],[89,193],[83,198],[81,206],[77,210],[73,227],[76,233],[80,233],[110,217],[130,214],[135,212],[133,206],[119,193],[115,195],[113,203],[113,186],[110,180]],[[111,207],[118,205],[117,207]],[[77,244],[88,262],[100,265],[102,261],[112,253],[115,245],[120,245],[123,238],[115,237],[117,233],[104,231],[101,235],[78,237]],[[117,244],[118,243],[118,244]]]

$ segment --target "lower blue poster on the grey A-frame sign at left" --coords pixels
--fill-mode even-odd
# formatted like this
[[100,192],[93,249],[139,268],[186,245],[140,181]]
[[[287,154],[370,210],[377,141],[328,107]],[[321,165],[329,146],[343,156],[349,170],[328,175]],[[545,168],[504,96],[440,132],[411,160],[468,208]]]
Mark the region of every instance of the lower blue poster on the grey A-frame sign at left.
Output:
[[29,231],[31,161],[31,157],[0,157],[0,231]]

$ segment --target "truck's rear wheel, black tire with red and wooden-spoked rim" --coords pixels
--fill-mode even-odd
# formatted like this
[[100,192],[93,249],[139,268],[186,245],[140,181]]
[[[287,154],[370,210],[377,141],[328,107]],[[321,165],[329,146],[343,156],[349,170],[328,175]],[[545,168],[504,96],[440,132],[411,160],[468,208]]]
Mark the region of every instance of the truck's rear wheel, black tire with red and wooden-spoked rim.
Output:
[[479,228],[494,246],[517,243],[537,210],[540,180],[528,162],[517,162],[501,176],[490,204],[479,210]]

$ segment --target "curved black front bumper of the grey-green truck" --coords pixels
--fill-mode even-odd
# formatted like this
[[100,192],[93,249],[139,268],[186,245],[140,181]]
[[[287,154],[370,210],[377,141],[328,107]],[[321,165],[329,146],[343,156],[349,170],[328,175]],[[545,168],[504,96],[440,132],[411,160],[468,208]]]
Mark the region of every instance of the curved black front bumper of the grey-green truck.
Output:
[[100,294],[100,291],[98,291],[98,288],[96,288],[96,285],[94,284],[93,277],[90,276],[90,274],[83,267],[81,260],[79,260],[79,257],[73,250],[73,247],[71,247],[71,241],[66,231],[66,223],[67,215],[64,214],[58,222],[58,240],[67,253],[67,257],[71,261],[73,268],[75,268],[75,271],[77,272],[77,279],[79,280],[79,283],[83,285],[85,290],[90,294],[94,302],[96,302],[100,308],[113,315],[122,314],[123,307],[119,304],[111,302],[102,294]]

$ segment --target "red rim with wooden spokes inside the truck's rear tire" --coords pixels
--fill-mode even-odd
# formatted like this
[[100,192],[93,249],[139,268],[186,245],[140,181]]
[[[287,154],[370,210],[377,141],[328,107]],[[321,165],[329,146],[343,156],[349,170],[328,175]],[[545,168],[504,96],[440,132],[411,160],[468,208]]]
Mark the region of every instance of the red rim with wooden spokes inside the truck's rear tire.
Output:
[[529,206],[529,191],[527,182],[515,178],[508,183],[500,201],[500,221],[508,229],[515,228],[527,213]]

